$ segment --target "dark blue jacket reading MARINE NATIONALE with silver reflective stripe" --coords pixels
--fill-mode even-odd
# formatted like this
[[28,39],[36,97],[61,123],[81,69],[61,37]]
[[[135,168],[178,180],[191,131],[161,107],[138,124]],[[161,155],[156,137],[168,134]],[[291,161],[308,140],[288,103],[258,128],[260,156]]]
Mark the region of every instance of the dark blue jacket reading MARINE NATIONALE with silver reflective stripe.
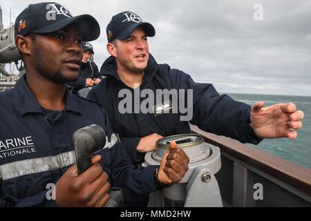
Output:
[[111,186],[124,189],[127,206],[144,205],[140,196],[156,191],[155,166],[134,169],[106,112],[67,92],[66,108],[48,122],[23,75],[15,88],[0,93],[0,206],[55,206],[46,198],[48,184],[75,163],[73,133],[90,124],[102,126],[108,136],[109,145],[97,154]]

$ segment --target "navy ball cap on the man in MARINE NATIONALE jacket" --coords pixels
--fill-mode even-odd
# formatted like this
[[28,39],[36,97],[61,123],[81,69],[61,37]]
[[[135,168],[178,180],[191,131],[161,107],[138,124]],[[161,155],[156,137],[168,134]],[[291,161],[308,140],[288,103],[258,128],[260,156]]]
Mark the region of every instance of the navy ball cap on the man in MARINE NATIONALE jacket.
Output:
[[83,41],[93,41],[100,36],[100,25],[91,15],[73,17],[59,3],[43,2],[29,5],[15,20],[15,37],[30,33],[48,34],[72,25]]

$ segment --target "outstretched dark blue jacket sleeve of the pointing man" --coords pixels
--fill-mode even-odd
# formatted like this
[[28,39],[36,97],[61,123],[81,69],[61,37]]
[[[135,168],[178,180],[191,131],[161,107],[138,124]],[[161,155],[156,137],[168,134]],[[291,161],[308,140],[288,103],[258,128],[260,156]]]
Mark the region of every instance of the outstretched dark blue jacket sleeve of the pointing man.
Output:
[[[171,82],[173,88],[191,89],[193,91],[193,117],[195,124],[203,131],[231,137],[240,142],[258,144],[257,137],[250,128],[251,106],[237,102],[228,95],[220,95],[211,84],[196,83],[180,70],[172,69]],[[186,100],[191,97],[186,96]]]

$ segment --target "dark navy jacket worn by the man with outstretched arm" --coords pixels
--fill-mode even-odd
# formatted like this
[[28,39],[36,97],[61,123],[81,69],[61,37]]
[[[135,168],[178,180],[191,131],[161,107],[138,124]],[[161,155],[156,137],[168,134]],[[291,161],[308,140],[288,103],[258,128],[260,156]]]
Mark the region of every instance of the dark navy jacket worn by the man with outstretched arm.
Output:
[[[151,113],[120,113],[118,104],[123,97],[118,97],[119,91],[127,88],[133,93],[134,90],[120,80],[116,70],[115,59],[113,57],[106,59],[100,70],[106,78],[88,93],[88,98],[95,100],[105,108],[113,131],[119,134],[133,163],[140,163],[144,160],[144,154],[136,151],[140,137],[152,133],[158,133],[164,137],[191,133],[189,123],[180,121],[180,113],[167,113],[157,117]],[[153,92],[156,89],[165,88],[168,90],[172,88],[193,89],[194,113],[191,124],[197,125],[203,131],[232,137],[243,143],[258,144],[261,141],[249,128],[251,106],[236,102],[228,95],[219,95],[211,84],[196,83],[190,75],[181,70],[171,69],[167,64],[157,64],[151,55],[140,85],[140,90],[145,88]]]

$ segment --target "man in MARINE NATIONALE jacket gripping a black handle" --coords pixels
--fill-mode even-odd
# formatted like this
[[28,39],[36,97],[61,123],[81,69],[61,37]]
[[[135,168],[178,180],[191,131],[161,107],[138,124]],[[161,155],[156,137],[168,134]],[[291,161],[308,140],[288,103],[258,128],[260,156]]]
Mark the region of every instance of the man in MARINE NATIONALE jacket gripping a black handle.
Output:
[[[189,158],[174,142],[160,167],[133,166],[104,109],[66,90],[79,76],[82,41],[99,35],[91,15],[73,17],[58,3],[29,5],[17,17],[26,75],[0,93],[0,206],[103,206],[110,186],[122,187],[126,206],[144,206],[149,193],[185,175]],[[77,175],[73,133],[90,124],[108,142]]]

